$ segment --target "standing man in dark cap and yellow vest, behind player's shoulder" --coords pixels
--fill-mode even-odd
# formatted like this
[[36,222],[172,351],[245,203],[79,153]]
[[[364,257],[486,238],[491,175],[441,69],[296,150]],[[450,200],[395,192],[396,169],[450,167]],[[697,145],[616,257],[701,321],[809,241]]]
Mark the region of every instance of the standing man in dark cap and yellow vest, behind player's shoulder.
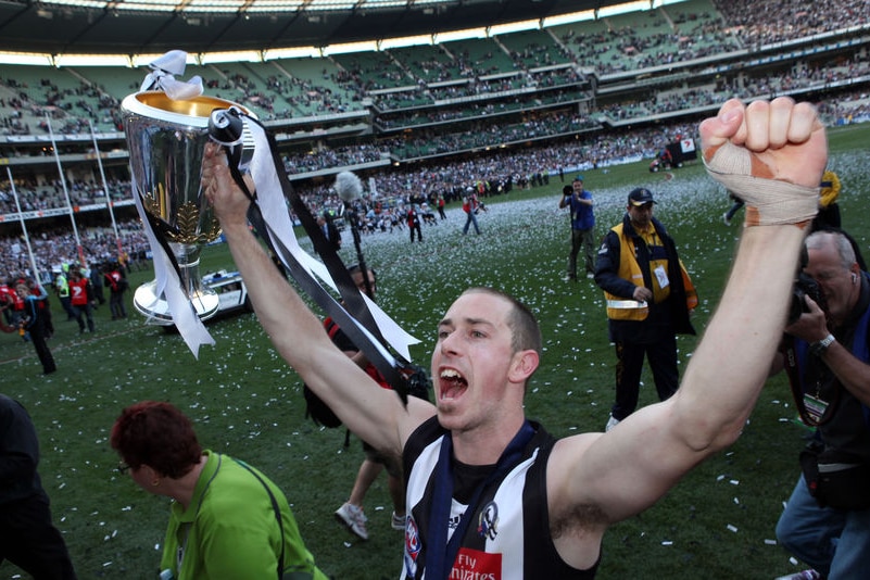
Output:
[[652,191],[632,190],[622,223],[607,232],[598,250],[595,282],[607,299],[617,360],[616,403],[606,430],[638,407],[644,355],[659,401],[677,392],[680,376],[674,333],[695,333],[689,315],[697,305],[697,294],[677,245],[653,217],[653,204]]

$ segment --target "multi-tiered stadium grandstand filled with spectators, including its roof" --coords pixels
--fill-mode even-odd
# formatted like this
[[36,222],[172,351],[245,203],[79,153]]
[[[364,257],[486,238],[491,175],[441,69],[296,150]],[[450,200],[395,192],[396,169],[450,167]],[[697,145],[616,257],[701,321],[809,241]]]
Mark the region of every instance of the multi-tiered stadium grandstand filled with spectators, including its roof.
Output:
[[89,260],[143,251],[118,106],[168,50],[256,113],[323,211],[341,171],[401,203],[653,157],[730,97],[866,121],[868,18],[859,0],[0,0],[2,275],[29,269],[22,222],[48,272],[75,227]]

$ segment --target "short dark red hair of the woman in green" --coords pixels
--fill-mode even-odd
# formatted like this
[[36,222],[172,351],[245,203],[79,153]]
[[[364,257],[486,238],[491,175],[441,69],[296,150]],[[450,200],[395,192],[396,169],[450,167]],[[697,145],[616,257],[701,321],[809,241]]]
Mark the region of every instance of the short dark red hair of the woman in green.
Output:
[[112,426],[109,442],[131,468],[148,465],[173,479],[190,472],[202,456],[190,419],[160,401],[126,407]]

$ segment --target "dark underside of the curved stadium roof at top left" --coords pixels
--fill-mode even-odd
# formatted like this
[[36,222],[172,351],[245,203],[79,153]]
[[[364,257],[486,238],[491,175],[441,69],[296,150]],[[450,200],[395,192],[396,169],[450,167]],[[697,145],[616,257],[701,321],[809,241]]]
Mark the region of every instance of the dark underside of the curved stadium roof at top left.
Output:
[[134,55],[325,47],[541,20],[626,1],[0,0],[0,50]]

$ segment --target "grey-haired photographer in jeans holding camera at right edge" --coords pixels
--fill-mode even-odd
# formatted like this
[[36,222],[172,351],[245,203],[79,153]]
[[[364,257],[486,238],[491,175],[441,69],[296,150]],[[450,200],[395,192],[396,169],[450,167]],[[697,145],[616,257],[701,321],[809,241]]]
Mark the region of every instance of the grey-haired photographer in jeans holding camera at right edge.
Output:
[[817,429],[777,537],[815,569],[800,578],[863,578],[870,569],[870,279],[842,232],[814,232],[805,245],[804,274],[818,283],[825,308],[807,295],[805,312],[785,332],[794,340],[796,402]]

